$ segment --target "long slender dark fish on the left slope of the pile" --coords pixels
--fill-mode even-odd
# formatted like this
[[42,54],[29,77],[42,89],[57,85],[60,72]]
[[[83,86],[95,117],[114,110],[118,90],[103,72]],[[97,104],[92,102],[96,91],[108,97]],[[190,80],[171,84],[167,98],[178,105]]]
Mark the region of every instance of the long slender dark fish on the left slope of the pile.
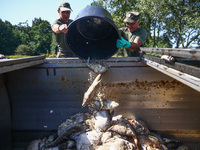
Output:
[[49,147],[55,147],[64,140],[64,137],[70,136],[71,134],[76,133],[76,132],[80,132],[82,130],[83,129],[82,129],[81,126],[77,126],[77,125],[69,126],[66,129],[66,131],[63,132],[62,135],[58,136],[58,138],[56,140],[52,141],[51,143],[47,143],[44,146],[42,146],[42,149],[46,149],[46,148],[49,148]]

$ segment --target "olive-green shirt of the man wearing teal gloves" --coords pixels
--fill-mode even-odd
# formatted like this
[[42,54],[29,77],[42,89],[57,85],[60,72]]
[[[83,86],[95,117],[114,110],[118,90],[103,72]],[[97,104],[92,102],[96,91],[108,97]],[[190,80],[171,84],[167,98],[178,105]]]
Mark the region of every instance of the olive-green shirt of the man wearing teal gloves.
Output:
[[[147,39],[147,32],[143,28],[138,28],[134,32],[130,32],[127,27],[120,28],[119,32],[121,34],[121,37],[123,37],[125,40],[129,42],[134,42],[136,38],[138,38],[142,45],[141,47],[145,46],[145,41]],[[123,56],[123,57],[138,57],[140,56],[139,48],[137,50],[129,50],[126,48],[119,49],[116,56]]]

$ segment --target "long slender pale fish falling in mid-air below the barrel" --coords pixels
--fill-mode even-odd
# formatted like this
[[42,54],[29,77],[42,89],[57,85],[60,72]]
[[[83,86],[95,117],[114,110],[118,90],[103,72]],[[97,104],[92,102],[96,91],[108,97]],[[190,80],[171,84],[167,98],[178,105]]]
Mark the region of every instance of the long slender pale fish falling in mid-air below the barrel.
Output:
[[84,94],[82,106],[85,107],[94,98],[98,85],[101,82],[102,74],[97,75],[87,92]]

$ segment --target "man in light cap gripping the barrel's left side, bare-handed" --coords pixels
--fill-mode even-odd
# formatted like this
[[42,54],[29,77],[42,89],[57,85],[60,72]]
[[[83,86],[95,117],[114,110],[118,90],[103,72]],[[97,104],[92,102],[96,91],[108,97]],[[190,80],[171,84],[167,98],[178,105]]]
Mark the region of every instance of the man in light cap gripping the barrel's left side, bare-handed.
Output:
[[69,19],[71,11],[70,4],[66,1],[62,1],[58,6],[60,18],[55,20],[51,25],[58,44],[57,58],[74,57],[70,48],[65,44],[64,38],[65,33],[68,31],[68,25],[72,22],[72,20]]

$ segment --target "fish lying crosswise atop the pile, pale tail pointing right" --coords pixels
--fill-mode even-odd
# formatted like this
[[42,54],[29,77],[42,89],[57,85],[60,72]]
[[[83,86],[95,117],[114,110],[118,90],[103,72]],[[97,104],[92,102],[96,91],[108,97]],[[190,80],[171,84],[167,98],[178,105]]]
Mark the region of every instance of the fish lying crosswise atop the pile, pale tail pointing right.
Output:
[[118,106],[119,103],[109,99],[100,99],[91,101],[91,107],[97,110],[113,110]]

